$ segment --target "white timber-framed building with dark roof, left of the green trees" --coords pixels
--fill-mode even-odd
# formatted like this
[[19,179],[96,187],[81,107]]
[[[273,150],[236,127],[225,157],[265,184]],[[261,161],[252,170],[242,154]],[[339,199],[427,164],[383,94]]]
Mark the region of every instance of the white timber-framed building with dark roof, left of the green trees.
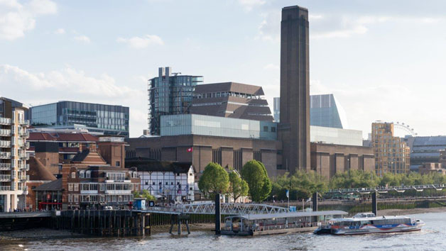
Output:
[[195,170],[190,162],[168,162],[145,158],[126,159],[127,167],[136,167],[141,190],[156,198],[193,201]]

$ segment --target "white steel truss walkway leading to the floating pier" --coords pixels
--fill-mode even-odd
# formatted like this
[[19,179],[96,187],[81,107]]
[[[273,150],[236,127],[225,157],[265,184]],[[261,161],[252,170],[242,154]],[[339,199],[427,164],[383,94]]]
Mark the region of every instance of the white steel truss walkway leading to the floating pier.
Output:
[[[176,205],[172,207],[148,207],[149,213],[199,213],[199,214],[215,214],[214,202],[190,203]],[[224,215],[243,215],[243,214],[272,214],[272,213],[288,213],[288,208],[281,206],[271,206],[268,204],[256,203],[222,203],[221,213]]]

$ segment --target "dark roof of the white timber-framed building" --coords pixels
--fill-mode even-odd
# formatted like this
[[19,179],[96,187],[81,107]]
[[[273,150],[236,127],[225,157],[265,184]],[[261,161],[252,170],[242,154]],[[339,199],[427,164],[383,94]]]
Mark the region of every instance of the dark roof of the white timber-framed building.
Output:
[[191,165],[191,162],[159,161],[144,157],[126,158],[126,167],[136,167],[138,172],[187,173]]

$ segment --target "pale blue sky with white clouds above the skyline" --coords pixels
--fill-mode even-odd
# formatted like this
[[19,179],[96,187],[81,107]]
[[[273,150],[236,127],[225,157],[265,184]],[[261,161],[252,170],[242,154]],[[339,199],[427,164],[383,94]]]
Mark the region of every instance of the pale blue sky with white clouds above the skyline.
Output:
[[130,107],[147,128],[158,67],[205,83],[280,89],[284,6],[310,13],[310,94],[335,94],[350,129],[403,122],[446,135],[446,1],[0,0],[0,96]]

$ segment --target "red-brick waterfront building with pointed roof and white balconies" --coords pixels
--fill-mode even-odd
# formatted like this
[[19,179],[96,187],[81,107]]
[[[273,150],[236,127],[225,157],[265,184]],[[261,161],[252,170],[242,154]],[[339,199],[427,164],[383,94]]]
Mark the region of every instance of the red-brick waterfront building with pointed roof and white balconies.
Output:
[[[125,208],[139,191],[135,170],[124,168],[124,138],[105,137],[62,164],[63,208]],[[102,157],[104,155],[104,157]]]

